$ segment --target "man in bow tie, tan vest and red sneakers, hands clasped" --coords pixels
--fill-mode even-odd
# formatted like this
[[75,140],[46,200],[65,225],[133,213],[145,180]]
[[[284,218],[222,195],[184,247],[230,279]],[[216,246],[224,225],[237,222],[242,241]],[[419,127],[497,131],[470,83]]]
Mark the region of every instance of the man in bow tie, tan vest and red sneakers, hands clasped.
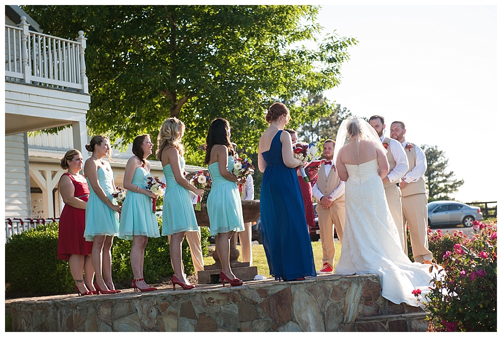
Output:
[[[340,244],[345,227],[345,182],[340,181],[336,172],[333,152],[335,141],[327,139],[322,147],[326,159],[317,174],[317,182],[312,187],[312,195],[317,200],[316,211],[319,215],[319,236],[322,245],[322,263],[318,274],[333,272],[335,263],[334,229]],[[334,226],[334,227],[333,227]]]

